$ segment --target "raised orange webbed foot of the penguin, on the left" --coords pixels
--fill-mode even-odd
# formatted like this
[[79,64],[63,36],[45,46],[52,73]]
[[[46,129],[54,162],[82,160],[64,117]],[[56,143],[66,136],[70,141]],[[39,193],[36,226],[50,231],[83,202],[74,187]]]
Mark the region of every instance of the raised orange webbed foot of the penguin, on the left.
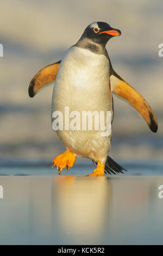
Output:
[[52,168],[57,166],[58,174],[61,173],[62,169],[66,168],[66,171],[73,166],[74,162],[76,161],[75,155],[70,151],[66,150],[61,155],[55,157],[52,162]]

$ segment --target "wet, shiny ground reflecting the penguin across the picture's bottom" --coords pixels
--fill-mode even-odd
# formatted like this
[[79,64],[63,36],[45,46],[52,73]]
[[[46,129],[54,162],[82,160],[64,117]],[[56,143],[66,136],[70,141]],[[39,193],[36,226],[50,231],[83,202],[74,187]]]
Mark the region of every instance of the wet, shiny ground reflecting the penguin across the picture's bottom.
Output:
[[80,175],[92,166],[82,168],[57,176],[47,167],[1,167],[10,176],[0,176],[0,244],[163,244],[161,169],[88,178]]

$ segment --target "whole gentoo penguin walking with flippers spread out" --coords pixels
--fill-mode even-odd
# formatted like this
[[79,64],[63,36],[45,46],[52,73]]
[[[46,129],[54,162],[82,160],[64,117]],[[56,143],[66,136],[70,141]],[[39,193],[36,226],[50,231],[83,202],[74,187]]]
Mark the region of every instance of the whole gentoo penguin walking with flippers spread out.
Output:
[[[62,60],[41,69],[29,84],[29,96],[43,87],[54,83],[52,97],[52,125],[62,114],[62,125],[53,129],[67,150],[55,157],[53,166],[60,174],[63,168],[72,167],[76,156],[87,157],[97,164],[89,176],[103,176],[104,173],[123,173],[124,168],[108,156],[111,142],[110,132],[102,136],[103,127],[109,127],[113,119],[112,93],[126,100],[146,120],[149,128],[156,132],[156,117],[142,95],[123,80],[113,69],[105,45],[113,36],[121,35],[119,29],[105,22],[93,22],[86,27],[78,42],[71,46]],[[65,112],[68,109],[68,112]],[[104,126],[92,125],[92,129],[81,126],[66,127],[65,120],[74,113],[77,118],[83,113],[110,113]],[[58,115],[56,115],[58,113]],[[66,115],[68,113],[68,117]],[[78,113],[78,115],[77,115]],[[103,115],[104,117],[104,115]],[[83,120],[83,119],[82,119]],[[99,120],[99,119],[98,119]],[[109,120],[109,121],[108,121]],[[69,124],[69,123],[68,123]]]

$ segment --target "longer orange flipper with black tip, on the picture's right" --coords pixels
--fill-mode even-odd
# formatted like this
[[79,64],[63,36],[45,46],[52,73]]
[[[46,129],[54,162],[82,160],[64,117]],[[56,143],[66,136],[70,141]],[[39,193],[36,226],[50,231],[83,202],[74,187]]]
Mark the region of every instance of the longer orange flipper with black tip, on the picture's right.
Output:
[[145,119],[151,131],[156,132],[158,130],[157,119],[147,101],[114,70],[111,71],[110,85],[112,93],[134,107],[141,117]]

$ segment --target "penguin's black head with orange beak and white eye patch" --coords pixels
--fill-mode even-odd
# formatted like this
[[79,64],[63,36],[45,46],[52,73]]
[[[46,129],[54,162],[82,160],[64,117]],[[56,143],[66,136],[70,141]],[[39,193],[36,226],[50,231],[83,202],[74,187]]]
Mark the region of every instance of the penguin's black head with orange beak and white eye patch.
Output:
[[93,22],[86,27],[82,39],[88,38],[97,44],[106,45],[106,42],[113,36],[121,35],[119,29],[112,28],[105,22]]

